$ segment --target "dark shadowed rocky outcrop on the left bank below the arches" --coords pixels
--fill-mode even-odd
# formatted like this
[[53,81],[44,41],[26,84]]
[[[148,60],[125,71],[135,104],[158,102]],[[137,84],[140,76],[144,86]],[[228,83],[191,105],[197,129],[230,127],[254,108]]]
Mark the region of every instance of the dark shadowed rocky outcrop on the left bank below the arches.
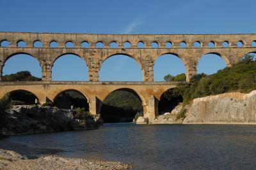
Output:
[[13,106],[0,120],[0,134],[34,134],[95,129],[102,123],[99,115],[75,119],[75,113],[75,110],[61,110],[49,106]]

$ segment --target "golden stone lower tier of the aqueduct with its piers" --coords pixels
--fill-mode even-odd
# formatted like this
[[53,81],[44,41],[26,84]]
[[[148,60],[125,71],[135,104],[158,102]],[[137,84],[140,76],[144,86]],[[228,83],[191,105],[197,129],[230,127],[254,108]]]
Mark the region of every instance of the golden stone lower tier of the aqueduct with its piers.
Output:
[[0,99],[14,90],[26,90],[34,94],[39,103],[53,102],[66,90],[76,90],[86,97],[90,113],[100,114],[104,99],[115,90],[129,90],[140,97],[143,113],[150,122],[157,115],[157,102],[168,89],[176,87],[175,82],[76,82],[76,81],[19,81],[0,82]]

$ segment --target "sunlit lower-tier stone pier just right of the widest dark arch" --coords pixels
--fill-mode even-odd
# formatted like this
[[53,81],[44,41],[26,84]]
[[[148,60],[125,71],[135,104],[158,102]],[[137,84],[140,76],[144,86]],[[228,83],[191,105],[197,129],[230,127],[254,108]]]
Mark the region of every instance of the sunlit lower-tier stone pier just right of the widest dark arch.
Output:
[[158,99],[151,95],[148,98],[148,110],[147,113],[144,113],[144,117],[148,118],[148,123],[154,121],[154,119],[158,116]]

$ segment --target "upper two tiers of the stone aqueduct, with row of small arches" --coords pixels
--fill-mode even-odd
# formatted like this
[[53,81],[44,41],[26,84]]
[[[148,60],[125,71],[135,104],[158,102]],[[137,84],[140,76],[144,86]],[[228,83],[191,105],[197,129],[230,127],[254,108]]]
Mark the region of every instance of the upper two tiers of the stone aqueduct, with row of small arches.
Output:
[[[1,46],[2,41],[8,41],[10,46]],[[17,46],[20,41],[26,47]],[[35,41],[42,43],[35,47]],[[58,47],[50,48],[50,43],[56,41]],[[243,47],[237,47],[237,42]],[[154,63],[159,56],[173,54],[179,57],[186,67],[187,81],[196,74],[196,66],[200,57],[207,53],[215,53],[225,60],[227,66],[239,62],[246,53],[256,52],[256,47],[251,43],[256,41],[256,34],[60,34],[60,33],[33,33],[33,32],[0,32],[0,80],[4,62],[15,54],[26,53],[35,57],[42,67],[42,80],[51,81],[51,69],[54,61],[61,55],[72,53],[83,59],[88,66],[89,81],[99,81],[100,66],[104,60],[112,55],[123,54],[136,60],[141,67],[143,81],[154,81]],[[74,48],[66,47],[72,42]],[[87,48],[82,43],[87,42]],[[103,43],[103,48],[97,48],[97,43]],[[117,48],[110,48],[115,42]],[[124,46],[129,42],[131,47]],[[144,48],[138,48],[139,42],[144,43]],[[186,48],[180,43],[186,43]],[[214,48],[209,47],[209,42],[214,43]],[[222,43],[227,42],[224,48]],[[158,47],[153,48],[152,43]],[[167,48],[166,43],[171,43],[172,48]],[[195,47],[199,43],[200,47]]]

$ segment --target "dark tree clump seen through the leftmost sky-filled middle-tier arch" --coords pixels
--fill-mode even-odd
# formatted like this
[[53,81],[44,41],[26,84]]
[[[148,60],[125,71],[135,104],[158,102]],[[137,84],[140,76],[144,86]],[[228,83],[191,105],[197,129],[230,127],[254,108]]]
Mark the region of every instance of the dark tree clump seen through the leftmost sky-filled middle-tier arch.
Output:
[[41,81],[41,78],[32,76],[29,71],[19,71],[15,74],[3,76],[3,81]]

